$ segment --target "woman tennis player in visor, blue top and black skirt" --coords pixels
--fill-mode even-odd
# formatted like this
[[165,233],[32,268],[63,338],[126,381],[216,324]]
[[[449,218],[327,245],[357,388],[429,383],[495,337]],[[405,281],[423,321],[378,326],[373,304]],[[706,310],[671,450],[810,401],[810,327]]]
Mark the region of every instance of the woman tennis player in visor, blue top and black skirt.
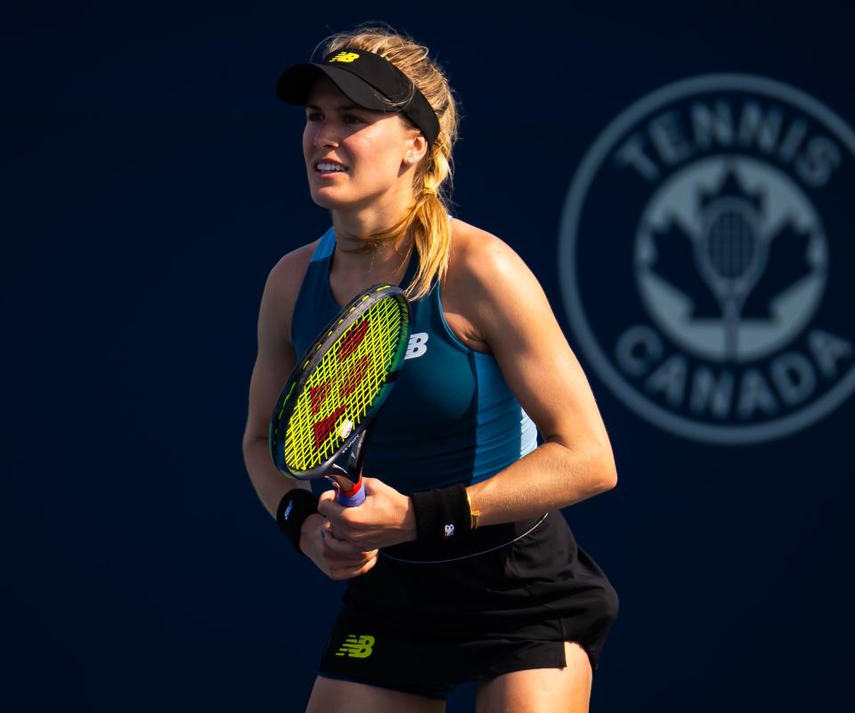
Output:
[[[305,106],[332,225],[267,280],[243,444],[282,531],[347,579],[308,710],[442,711],[468,681],[479,711],[588,710],[617,596],[558,511],[615,487],[590,387],[525,263],[448,213],[458,112],[427,49],[365,27],[325,49],[277,92]],[[381,282],[407,290],[409,350],[343,507],[279,473],[267,428],[297,357]]]

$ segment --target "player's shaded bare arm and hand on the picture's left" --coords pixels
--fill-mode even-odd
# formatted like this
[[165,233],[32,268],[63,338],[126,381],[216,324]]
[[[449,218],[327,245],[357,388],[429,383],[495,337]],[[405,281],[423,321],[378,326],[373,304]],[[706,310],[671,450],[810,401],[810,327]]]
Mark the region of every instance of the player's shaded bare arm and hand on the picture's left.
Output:
[[[247,427],[243,434],[243,460],[249,480],[268,513],[276,517],[281,499],[289,490],[311,490],[308,482],[292,481],[273,465],[267,433],[273,404],[296,363],[290,341],[291,318],[299,288],[314,244],[300,247],[282,257],[270,271],[258,312],[258,353],[249,380]],[[300,549],[332,579],[349,579],[369,571],[377,551],[361,552],[330,531],[321,514],[303,523]]]

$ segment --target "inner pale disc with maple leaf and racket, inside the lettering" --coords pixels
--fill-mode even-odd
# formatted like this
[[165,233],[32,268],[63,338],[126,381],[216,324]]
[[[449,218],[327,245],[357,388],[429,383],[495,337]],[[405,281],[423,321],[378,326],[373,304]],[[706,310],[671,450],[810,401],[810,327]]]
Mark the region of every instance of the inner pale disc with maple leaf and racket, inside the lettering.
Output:
[[784,346],[826,286],[816,209],[753,158],[705,158],[676,172],[644,208],[633,250],[649,316],[707,361],[753,361]]

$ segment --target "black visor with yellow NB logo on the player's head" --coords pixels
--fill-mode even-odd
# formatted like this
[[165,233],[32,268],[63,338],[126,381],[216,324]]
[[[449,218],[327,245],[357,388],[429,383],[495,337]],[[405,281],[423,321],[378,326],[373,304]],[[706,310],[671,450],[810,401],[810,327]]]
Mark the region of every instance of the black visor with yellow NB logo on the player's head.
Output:
[[403,72],[378,54],[364,50],[338,50],[322,62],[303,62],[286,69],[276,83],[282,101],[305,106],[314,83],[329,77],[355,104],[374,111],[400,111],[421,129],[433,146],[439,120],[424,95]]

